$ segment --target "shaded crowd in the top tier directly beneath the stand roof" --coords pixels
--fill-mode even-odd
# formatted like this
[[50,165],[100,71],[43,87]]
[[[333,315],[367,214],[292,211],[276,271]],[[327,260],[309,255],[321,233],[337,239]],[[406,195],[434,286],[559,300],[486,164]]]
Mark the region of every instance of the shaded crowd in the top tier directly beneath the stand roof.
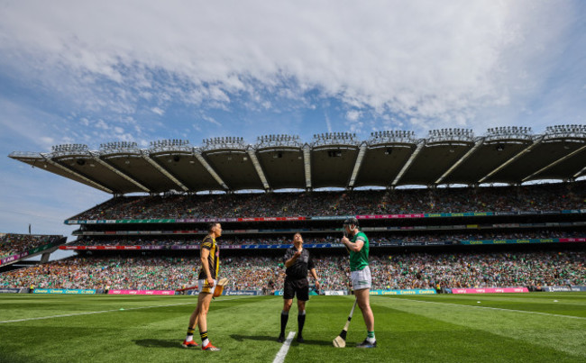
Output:
[[534,186],[115,197],[72,219],[170,219],[586,208],[586,181]]

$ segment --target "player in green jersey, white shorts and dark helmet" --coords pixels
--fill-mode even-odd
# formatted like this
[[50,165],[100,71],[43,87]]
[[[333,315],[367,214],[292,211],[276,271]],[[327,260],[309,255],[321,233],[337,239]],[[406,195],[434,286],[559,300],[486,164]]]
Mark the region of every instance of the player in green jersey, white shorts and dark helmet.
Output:
[[356,348],[376,348],[374,336],[374,315],[371,310],[371,268],[369,267],[369,240],[364,232],[358,229],[358,220],[348,218],[343,222],[344,237],[342,243],[350,251],[350,276],[354,295],[362,311],[366,324],[367,337]]

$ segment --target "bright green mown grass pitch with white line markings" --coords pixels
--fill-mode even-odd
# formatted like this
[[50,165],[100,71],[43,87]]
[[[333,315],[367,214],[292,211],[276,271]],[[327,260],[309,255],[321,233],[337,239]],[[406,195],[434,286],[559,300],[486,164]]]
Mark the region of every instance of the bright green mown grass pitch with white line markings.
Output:
[[[0,361],[272,362],[277,356],[281,298],[216,299],[208,331],[220,352],[180,347],[195,302],[195,296],[3,294]],[[293,340],[285,361],[586,361],[586,294],[371,296],[379,347],[353,348],[366,336],[357,309],[348,346],[335,349],[332,340],[352,304],[353,296],[313,296],[306,342]],[[294,304],[288,331],[296,330]]]

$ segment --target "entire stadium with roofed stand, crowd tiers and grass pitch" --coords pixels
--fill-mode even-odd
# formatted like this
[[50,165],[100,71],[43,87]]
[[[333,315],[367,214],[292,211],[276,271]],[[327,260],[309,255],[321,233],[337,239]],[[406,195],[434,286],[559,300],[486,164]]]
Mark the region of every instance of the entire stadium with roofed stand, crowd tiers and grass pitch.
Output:
[[[204,359],[180,342],[209,222],[224,229],[229,284],[209,318],[223,350],[206,360],[279,358],[282,257],[296,232],[321,287],[286,361],[586,358],[584,125],[115,141],[10,158],[112,197],[64,221],[78,226],[72,241],[2,235],[2,361]],[[349,346],[332,346],[353,304],[349,217],[371,247],[380,345],[367,353],[351,348],[360,317]],[[50,260],[56,250],[75,255]]]

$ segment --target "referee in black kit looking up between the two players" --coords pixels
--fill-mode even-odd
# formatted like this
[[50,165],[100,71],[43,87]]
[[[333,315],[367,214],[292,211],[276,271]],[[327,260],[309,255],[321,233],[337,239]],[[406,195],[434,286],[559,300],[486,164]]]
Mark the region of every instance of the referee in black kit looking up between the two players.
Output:
[[319,289],[317,281],[316,268],[314,261],[309,256],[309,251],[303,248],[303,238],[301,233],[295,233],[293,236],[293,247],[285,252],[283,257],[285,263],[285,285],[283,287],[283,311],[280,313],[280,334],[279,343],[285,341],[285,328],[287,327],[288,312],[293,304],[293,297],[298,296],[298,342],[303,340],[303,325],[306,322],[306,302],[309,300],[309,283],[307,281],[307,271],[316,280],[316,288]]

